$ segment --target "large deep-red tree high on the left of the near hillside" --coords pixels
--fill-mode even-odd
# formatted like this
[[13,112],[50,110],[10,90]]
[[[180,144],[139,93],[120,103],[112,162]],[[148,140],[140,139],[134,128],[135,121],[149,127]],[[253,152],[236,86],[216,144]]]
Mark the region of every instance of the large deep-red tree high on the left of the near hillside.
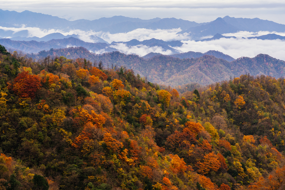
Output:
[[40,77],[30,75],[28,71],[19,73],[12,83],[12,90],[20,97],[35,98],[36,91],[41,87]]

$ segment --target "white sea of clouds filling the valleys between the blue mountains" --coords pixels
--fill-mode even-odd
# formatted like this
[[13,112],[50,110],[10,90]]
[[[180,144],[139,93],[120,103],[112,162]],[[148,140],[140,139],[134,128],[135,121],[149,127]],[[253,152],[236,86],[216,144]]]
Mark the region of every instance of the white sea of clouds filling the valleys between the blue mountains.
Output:
[[[237,38],[221,38],[219,40],[211,40],[211,41],[194,41],[191,39],[190,35],[187,33],[184,34],[177,34],[180,32],[180,28],[171,29],[171,30],[151,30],[140,28],[130,32],[125,33],[117,33],[117,34],[110,34],[109,32],[94,32],[94,31],[84,31],[84,30],[70,30],[69,32],[63,32],[62,30],[43,30],[36,27],[25,27],[24,25],[20,28],[7,28],[1,27],[0,29],[5,31],[13,31],[13,33],[20,32],[22,30],[28,31],[28,37],[37,36],[39,38],[46,36],[47,34],[60,32],[63,35],[71,35],[71,34],[78,34],[78,37],[85,41],[85,42],[96,42],[90,36],[95,35],[103,40],[111,43],[116,43],[111,47],[120,50],[125,54],[137,54],[139,56],[144,56],[150,52],[161,53],[165,55],[174,54],[171,50],[165,50],[159,46],[149,47],[144,45],[137,45],[137,46],[127,46],[125,43],[126,41],[137,39],[139,41],[148,40],[151,38],[156,38],[159,40],[164,41],[172,41],[172,40],[180,40],[184,44],[180,47],[172,47],[176,49],[178,52],[207,52],[209,50],[217,50],[223,52],[224,54],[228,54],[233,58],[239,57],[255,57],[258,54],[268,54],[274,58],[285,60],[285,41],[284,40],[257,40],[257,39],[243,39],[251,36],[261,36],[269,33],[275,33],[281,36],[285,36],[285,32],[268,32],[268,31],[260,31],[255,34],[253,32],[241,31],[237,33],[229,33],[223,34],[224,36],[235,36]],[[209,38],[212,36],[206,36],[204,38]],[[72,46],[72,45],[70,45]],[[99,50],[95,53],[103,53],[105,52],[104,49]]]

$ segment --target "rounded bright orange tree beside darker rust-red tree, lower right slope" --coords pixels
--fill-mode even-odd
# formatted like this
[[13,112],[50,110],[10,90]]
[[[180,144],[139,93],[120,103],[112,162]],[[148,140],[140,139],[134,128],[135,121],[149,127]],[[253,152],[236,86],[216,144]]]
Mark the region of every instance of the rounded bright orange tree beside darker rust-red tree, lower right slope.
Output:
[[210,152],[204,156],[203,162],[198,162],[198,172],[207,174],[209,171],[218,171],[221,164],[219,158],[215,153]]

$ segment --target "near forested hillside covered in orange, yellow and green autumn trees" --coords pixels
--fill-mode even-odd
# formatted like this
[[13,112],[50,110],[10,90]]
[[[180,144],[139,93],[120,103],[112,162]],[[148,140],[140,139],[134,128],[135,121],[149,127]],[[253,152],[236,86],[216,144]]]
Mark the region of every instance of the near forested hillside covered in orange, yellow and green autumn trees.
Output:
[[0,46],[1,189],[285,188],[283,78],[179,94],[123,67],[45,60]]

